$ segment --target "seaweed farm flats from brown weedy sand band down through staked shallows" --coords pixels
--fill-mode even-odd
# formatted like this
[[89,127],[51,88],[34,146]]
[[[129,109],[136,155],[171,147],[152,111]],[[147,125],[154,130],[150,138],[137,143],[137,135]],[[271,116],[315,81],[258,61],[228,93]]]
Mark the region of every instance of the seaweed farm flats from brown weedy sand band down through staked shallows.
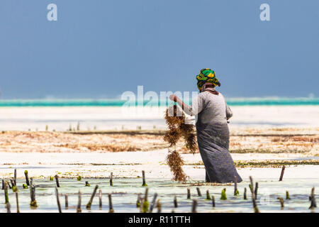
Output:
[[[167,142],[163,140],[165,131],[160,130],[3,131],[0,179],[12,187],[16,176],[21,213],[76,213],[79,208],[82,213],[109,212],[110,197],[111,211],[116,213],[150,212],[151,208],[152,212],[164,213],[318,212],[315,208],[315,200],[318,200],[315,192],[318,194],[319,188],[318,130],[233,129],[230,153],[243,179],[237,184],[237,191],[234,183],[204,182],[201,155],[198,150],[192,153],[186,149],[184,141],[176,143],[174,150],[184,162],[182,170],[186,181],[172,181],[174,174],[165,159],[168,151]],[[286,170],[279,181],[283,166]],[[28,189],[23,188],[25,170],[30,179],[33,177],[34,188],[32,184]],[[0,212],[14,213],[16,192],[7,186],[7,197],[4,187],[0,192]],[[78,206],[79,191],[81,206]],[[91,207],[87,209],[90,199]],[[30,206],[31,201],[36,206]],[[309,209],[310,206],[313,208]]]

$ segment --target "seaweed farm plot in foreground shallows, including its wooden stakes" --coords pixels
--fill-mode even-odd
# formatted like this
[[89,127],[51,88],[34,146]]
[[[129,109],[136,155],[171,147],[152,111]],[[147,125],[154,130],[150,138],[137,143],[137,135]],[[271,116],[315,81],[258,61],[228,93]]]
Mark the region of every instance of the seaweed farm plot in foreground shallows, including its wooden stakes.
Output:
[[[59,212],[55,192],[57,189],[61,212],[71,213],[78,211],[79,191],[81,191],[80,207],[82,212],[109,212],[110,195],[113,211],[125,213],[150,212],[150,209],[152,212],[177,213],[191,211],[205,213],[254,212],[252,197],[255,199],[259,212],[318,212],[318,208],[314,207],[315,199],[318,198],[315,198],[315,195],[311,201],[310,198],[313,187],[319,187],[319,179],[283,179],[282,181],[279,179],[253,179],[254,193],[251,193],[250,181],[244,181],[237,184],[237,195],[234,195],[235,185],[233,183],[213,184],[198,181],[177,184],[169,179],[146,179],[146,182],[143,182],[142,178],[114,178],[111,182],[110,178],[79,179],[58,179],[60,187],[57,187],[54,178],[51,180],[33,179],[34,199],[37,207],[30,206],[32,196],[32,193],[30,196],[32,191],[30,186],[28,189],[23,189],[26,179],[16,179],[19,211],[21,213]],[[87,184],[90,186],[86,186]],[[91,208],[86,208],[96,185],[98,188],[91,202]],[[147,205],[149,204],[146,210],[141,205],[144,200],[138,200],[138,198],[145,198],[145,191],[147,191]],[[225,192],[223,195],[222,191]],[[157,198],[154,200],[155,193]],[[2,190],[2,194],[5,194],[4,190]],[[66,194],[67,205],[65,204]],[[13,192],[13,189],[8,188],[8,195],[10,210],[16,212],[16,193]],[[2,198],[5,201],[5,196]],[[137,207],[138,201],[140,208]],[[310,209],[311,205],[313,209]],[[0,212],[7,212],[5,203],[0,206]]]

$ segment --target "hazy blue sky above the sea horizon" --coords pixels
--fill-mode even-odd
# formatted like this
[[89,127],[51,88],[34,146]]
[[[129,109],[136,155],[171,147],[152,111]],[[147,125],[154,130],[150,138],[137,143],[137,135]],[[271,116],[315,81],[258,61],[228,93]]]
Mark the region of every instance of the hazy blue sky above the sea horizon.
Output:
[[318,0],[1,0],[2,98],[196,91],[205,67],[225,96],[318,96],[318,21]]

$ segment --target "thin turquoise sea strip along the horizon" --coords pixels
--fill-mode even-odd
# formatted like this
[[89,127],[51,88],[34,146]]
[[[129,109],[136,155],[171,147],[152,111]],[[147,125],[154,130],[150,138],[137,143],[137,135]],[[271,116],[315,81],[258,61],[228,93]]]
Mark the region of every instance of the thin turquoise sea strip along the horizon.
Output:
[[[319,98],[229,98],[230,106],[309,106],[319,105]],[[186,101],[189,104],[189,101]],[[134,104],[134,101],[121,99],[11,99],[0,100],[1,106],[123,106]],[[169,101],[135,101],[136,105],[159,106]]]

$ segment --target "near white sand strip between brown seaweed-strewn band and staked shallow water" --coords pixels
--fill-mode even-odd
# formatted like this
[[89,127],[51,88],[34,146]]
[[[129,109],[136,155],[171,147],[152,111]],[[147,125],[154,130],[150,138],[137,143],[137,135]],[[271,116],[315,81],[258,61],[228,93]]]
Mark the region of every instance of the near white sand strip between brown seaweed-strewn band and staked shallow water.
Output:
[[[0,177],[12,177],[13,169],[18,169],[18,178],[23,178],[24,170],[35,178],[47,178],[58,174],[60,177],[138,177],[145,170],[147,177],[171,179],[169,167],[164,165],[167,150],[150,152],[121,153],[0,153]],[[182,154],[186,164],[201,160],[198,153]],[[293,159],[296,154],[232,154],[233,160]],[[184,165],[186,175],[194,180],[204,180],[203,165]],[[238,172],[247,181],[253,175],[257,179],[277,179],[281,169],[276,168],[239,168]],[[318,179],[318,165],[298,165],[286,168],[284,177]]]

